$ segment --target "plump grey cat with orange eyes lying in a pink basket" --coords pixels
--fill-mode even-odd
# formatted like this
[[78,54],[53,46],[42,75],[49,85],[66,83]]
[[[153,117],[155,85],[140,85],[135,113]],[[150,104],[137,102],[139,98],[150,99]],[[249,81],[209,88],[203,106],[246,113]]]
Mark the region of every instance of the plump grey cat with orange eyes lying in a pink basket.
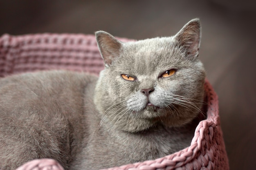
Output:
[[173,37],[123,43],[98,31],[99,79],[42,71],[0,79],[0,169],[39,158],[97,170],[190,145],[202,115],[200,21]]

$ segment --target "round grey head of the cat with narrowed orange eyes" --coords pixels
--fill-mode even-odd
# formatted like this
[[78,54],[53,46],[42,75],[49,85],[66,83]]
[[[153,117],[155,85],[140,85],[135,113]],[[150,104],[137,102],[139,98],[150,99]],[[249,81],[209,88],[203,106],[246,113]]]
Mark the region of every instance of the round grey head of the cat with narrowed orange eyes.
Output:
[[205,78],[198,58],[200,36],[199,19],[172,37],[135,42],[96,32],[105,63],[94,97],[101,123],[138,132],[156,124],[182,126],[195,118]]

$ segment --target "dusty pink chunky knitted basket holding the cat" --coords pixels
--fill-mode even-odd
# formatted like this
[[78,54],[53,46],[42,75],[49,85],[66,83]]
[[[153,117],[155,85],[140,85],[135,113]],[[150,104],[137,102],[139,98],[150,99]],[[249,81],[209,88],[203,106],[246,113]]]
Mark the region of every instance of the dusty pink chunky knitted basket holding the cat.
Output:
[[[129,41],[119,38],[121,41]],[[0,37],[0,77],[49,69],[99,74],[104,68],[94,35],[34,34]],[[218,115],[218,97],[205,81],[207,119],[200,121],[191,146],[166,157],[108,170],[229,170]],[[25,163],[17,170],[63,170],[52,159]]]

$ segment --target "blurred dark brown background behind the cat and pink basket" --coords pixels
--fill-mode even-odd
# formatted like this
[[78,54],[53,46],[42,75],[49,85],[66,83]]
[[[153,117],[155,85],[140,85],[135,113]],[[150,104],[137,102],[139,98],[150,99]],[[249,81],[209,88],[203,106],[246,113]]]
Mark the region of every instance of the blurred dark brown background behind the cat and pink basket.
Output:
[[169,36],[200,18],[200,58],[219,95],[231,170],[256,169],[256,5],[253,0],[0,0],[0,35],[108,31]]

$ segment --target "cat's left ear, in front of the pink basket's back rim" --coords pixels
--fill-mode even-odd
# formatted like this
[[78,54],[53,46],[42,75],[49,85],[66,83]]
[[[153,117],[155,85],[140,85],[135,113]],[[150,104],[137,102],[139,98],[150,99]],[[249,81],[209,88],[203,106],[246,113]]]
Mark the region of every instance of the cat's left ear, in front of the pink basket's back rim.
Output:
[[123,44],[105,31],[97,31],[95,36],[105,66],[110,66],[113,59],[120,55]]

